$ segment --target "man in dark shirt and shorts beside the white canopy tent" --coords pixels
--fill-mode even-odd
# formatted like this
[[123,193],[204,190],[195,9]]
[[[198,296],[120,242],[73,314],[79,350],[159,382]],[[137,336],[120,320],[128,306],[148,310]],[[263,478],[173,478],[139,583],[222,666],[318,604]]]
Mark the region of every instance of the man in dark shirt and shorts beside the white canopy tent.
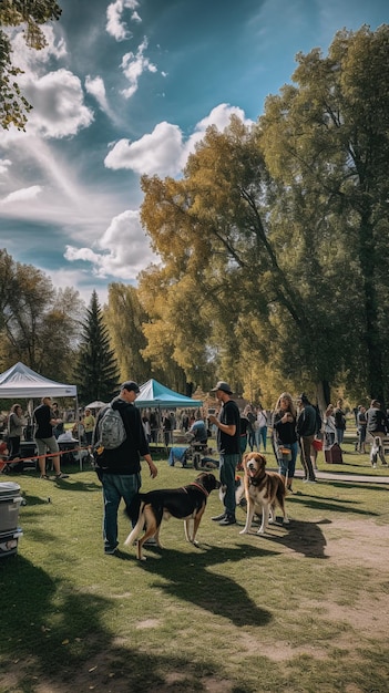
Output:
[[42,397],[42,403],[37,406],[33,412],[33,417],[37,424],[35,443],[38,449],[38,462],[41,473],[41,479],[48,479],[45,468],[45,454],[48,449],[50,453],[57,453],[50,459],[53,463],[55,478],[66,479],[69,474],[61,472],[60,452],[57,438],[53,433],[53,427],[61,424],[61,418],[55,418],[51,408],[51,397]]

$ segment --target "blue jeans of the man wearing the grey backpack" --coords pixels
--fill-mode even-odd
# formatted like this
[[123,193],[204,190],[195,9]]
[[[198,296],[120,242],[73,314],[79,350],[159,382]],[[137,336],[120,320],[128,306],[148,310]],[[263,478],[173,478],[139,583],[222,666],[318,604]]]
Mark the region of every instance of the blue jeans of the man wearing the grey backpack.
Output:
[[117,541],[117,510],[121,499],[129,507],[141,488],[141,474],[103,474],[103,539],[104,549],[115,549]]

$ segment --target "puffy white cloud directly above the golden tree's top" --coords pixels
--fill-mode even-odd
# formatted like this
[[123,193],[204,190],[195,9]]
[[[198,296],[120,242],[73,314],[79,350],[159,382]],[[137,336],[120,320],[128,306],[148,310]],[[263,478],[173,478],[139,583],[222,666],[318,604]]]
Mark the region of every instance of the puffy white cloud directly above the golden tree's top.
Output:
[[120,139],[105,157],[104,164],[106,168],[130,168],[140,175],[178,175],[196,143],[204,137],[206,128],[215,125],[222,132],[233,114],[246,125],[253,124],[253,121],[245,117],[242,108],[219,104],[196,124],[194,133],[186,142],[177,125],[158,123],[151,134],[143,135],[136,142]]

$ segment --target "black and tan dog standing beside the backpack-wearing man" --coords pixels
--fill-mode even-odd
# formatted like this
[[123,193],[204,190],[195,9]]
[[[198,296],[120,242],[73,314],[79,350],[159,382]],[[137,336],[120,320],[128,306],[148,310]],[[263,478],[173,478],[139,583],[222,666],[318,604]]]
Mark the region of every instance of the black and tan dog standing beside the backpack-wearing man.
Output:
[[160,488],[149,494],[136,494],[127,515],[136,517],[137,521],[132,532],[124,541],[131,546],[136,541],[143,528],[145,532],[137,541],[137,558],[145,560],[142,554],[144,542],[155,537],[156,546],[163,548],[160,542],[160,527],[162,519],[176,517],[184,520],[186,541],[195,544],[198,525],[204,515],[208,495],[215,488],[221,487],[214,474],[203,472],[195,480],[181,488]]

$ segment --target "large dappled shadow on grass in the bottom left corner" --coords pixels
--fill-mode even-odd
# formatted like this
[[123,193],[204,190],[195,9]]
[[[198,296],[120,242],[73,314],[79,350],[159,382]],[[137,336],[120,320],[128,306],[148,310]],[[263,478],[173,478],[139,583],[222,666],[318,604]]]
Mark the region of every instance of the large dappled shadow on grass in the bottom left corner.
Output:
[[[109,597],[73,592],[20,556],[3,559],[1,568],[0,690],[192,692],[205,691],[207,675],[223,679],[211,656],[202,661],[203,684],[190,656],[117,645],[102,625],[112,609]],[[172,689],[168,680],[176,675],[180,689]]]

